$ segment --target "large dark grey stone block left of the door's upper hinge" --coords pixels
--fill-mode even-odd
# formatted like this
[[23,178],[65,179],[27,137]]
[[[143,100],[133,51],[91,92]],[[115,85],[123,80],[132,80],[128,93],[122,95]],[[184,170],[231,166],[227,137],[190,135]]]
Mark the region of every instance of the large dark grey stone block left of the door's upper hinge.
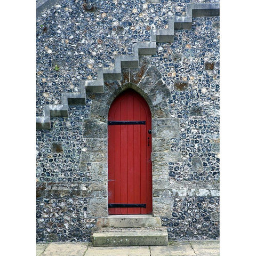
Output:
[[98,119],[85,119],[84,137],[85,138],[107,138],[107,122]]

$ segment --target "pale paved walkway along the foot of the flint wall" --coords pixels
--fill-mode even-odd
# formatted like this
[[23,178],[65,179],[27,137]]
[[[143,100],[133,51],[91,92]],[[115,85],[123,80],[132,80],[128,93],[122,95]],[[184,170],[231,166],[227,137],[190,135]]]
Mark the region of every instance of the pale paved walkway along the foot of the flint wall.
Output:
[[219,240],[174,241],[165,246],[93,247],[89,242],[38,243],[36,256],[219,256]]

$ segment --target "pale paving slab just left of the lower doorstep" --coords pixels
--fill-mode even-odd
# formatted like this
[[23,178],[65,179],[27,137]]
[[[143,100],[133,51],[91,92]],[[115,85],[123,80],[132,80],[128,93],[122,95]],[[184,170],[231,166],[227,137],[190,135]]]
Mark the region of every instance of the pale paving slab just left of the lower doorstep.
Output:
[[88,242],[50,243],[40,256],[84,256]]

